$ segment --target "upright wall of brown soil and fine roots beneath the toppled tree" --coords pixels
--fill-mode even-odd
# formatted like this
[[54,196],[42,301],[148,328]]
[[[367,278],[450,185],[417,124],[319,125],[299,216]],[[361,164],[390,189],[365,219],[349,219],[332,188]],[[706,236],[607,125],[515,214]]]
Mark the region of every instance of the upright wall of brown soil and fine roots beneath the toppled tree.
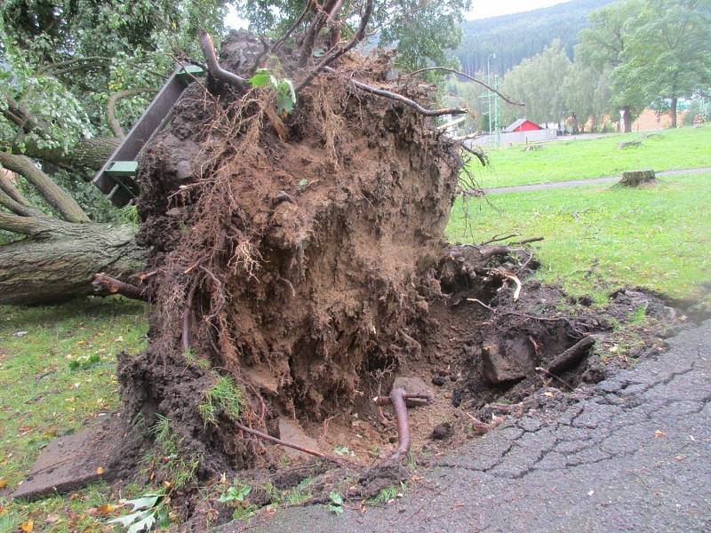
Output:
[[[244,74],[253,60],[237,54],[260,48],[238,34],[220,61]],[[339,72],[382,84],[388,68],[353,55]],[[286,141],[259,93],[193,84],[141,163],[154,305],[148,351],[120,363],[122,395],[148,426],[169,419],[204,475],[264,455],[235,418],[277,434],[279,416],[350,412],[414,346],[403,326],[427,308],[458,150],[343,76],[300,94]],[[398,91],[427,101],[432,87]]]

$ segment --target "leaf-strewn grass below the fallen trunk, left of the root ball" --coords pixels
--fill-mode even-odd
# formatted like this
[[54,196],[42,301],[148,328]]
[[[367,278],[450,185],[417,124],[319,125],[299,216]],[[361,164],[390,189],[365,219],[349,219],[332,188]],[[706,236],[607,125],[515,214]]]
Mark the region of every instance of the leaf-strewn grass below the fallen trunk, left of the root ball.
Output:
[[116,354],[140,351],[146,330],[143,305],[124,298],[0,306],[0,533],[104,527],[100,506],[116,495],[101,483],[31,504],[7,496],[54,437],[116,410]]

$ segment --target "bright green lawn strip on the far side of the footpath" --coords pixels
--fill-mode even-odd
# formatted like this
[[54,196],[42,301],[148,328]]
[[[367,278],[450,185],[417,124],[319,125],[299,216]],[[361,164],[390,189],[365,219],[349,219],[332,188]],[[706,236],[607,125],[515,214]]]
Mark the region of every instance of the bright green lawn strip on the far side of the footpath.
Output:
[[[652,133],[652,132],[647,132]],[[670,171],[711,167],[711,125],[654,131],[642,146],[619,150],[620,141],[640,139],[644,133],[611,135],[601,139],[548,142],[543,149],[491,149],[491,165],[473,167],[481,187],[507,187],[568,179],[603,178],[622,171]],[[472,163],[474,164],[474,163]]]

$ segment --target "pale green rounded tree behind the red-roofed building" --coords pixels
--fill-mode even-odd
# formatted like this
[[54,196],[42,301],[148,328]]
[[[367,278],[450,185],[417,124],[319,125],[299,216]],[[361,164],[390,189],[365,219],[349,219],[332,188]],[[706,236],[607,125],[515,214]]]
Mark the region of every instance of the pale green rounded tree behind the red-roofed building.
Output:
[[[563,83],[571,71],[571,60],[561,44],[555,42],[543,52],[523,60],[504,76],[502,91],[523,102],[532,121],[559,122],[566,117]],[[521,113],[521,107],[505,107],[507,122]]]

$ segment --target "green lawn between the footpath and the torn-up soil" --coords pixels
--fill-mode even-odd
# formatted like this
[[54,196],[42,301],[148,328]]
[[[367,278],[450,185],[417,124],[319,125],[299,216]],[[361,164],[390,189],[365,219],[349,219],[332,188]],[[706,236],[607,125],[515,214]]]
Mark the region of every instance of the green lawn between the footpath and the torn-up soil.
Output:
[[450,241],[543,236],[533,245],[543,263],[539,276],[572,294],[602,301],[627,284],[690,298],[711,282],[711,173],[661,179],[656,187],[552,189],[489,202],[468,201],[469,231],[458,200]]

